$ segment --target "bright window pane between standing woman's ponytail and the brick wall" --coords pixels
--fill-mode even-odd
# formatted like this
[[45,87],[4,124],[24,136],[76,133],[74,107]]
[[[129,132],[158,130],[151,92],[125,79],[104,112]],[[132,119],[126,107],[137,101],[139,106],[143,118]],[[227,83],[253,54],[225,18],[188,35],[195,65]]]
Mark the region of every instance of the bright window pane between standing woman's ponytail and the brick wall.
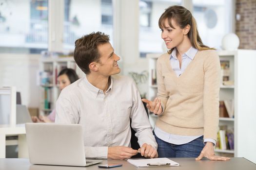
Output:
[[193,5],[203,44],[220,49],[222,37],[232,32],[232,0],[193,0]]

